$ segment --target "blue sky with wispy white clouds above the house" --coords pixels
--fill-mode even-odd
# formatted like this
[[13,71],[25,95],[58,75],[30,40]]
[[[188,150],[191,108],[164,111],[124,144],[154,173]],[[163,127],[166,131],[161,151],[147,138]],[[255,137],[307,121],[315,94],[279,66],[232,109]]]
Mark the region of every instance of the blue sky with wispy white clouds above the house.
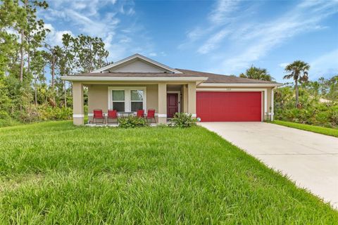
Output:
[[49,1],[39,12],[64,33],[101,37],[109,60],[134,53],[173,68],[239,75],[255,65],[282,82],[284,65],[310,63],[310,79],[338,74],[338,0]]

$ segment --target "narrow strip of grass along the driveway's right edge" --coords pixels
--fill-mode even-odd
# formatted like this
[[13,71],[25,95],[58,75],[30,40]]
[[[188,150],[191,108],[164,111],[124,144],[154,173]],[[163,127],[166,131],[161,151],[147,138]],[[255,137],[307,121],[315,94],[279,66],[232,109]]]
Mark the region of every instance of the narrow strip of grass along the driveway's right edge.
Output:
[[286,122],[286,121],[281,121],[281,120],[275,120],[272,123],[282,125],[285,127],[303,129],[304,131],[312,131],[318,134],[325,134],[325,135],[338,137],[338,129],[318,127],[318,126],[313,126],[313,125],[308,125],[308,124],[298,124],[296,122]]

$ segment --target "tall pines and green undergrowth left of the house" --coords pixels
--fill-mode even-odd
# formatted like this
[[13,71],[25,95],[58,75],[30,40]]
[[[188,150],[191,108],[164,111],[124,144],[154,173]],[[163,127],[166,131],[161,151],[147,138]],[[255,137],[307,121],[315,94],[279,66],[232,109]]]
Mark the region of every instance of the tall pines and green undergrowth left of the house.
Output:
[[48,7],[46,1],[0,1],[0,120],[68,117],[71,84],[60,77],[108,63],[99,37],[63,34],[61,45],[48,42],[51,30],[37,18]]

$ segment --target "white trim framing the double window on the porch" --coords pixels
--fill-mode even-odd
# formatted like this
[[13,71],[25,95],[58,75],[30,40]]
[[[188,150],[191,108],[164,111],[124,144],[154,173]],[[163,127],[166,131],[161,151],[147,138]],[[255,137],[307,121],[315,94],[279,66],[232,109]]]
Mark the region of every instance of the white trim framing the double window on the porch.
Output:
[[[113,105],[112,105],[112,91],[113,90],[125,91],[125,112],[132,111],[130,91],[142,90],[143,91],[143,109],[144,111],[146,111],[146,86],[108,86],[108,110],[111,110],[113,108]],[[120,102],[123,102],[123,101],[120,101]]]

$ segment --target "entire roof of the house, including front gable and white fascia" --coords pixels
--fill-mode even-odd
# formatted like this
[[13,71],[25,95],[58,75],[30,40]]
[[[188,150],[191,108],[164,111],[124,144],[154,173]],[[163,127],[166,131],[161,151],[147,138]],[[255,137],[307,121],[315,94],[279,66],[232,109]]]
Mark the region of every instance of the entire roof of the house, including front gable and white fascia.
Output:
[[[136,63],[135,63],[136,62]],[[68,81],[123,81],[123,82],[197,82],[201,86],[281,86],[277,82],[268,82],[258,79],[248,79],[228,75],[218,75],[210,72],[194,70],[173,69],[167,65],[134,54],[116,63],[107,65],[99,70],[80,75],[61,77]]]

